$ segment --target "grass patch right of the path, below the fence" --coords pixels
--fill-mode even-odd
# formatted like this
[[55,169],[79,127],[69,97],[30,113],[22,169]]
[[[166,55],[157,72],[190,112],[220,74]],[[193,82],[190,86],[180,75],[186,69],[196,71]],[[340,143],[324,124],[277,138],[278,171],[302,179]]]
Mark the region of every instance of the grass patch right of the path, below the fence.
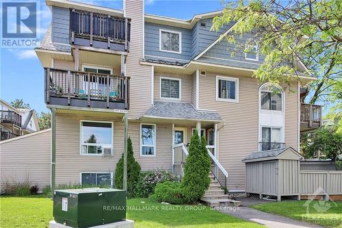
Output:
[[312,201],[308,205],[308,214],[306,214],[306,202],[310,201],[282,201],[256,204],[250,207],[296,220],[304,220],[306,223],[342,227],[342,202]]

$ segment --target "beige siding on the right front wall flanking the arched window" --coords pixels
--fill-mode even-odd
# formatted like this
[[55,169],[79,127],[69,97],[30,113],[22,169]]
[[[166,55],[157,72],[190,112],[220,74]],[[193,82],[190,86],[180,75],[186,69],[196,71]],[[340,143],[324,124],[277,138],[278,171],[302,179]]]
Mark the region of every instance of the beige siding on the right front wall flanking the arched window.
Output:
[[[199,107],[217,110],[224,120],[218,128],[218,158],[228,172],[228,188],[245,189],[245,166],[241,160],[258,150],[259,81],[252,77],[220,75],[239,79],[239,102],[215,101],[216,74],[200,76]],[[252,76],[252,75],[250,75]],[[291,88],[295,88],[292,86]],[[298,149],[298,94],[285,92],[285,143]]]

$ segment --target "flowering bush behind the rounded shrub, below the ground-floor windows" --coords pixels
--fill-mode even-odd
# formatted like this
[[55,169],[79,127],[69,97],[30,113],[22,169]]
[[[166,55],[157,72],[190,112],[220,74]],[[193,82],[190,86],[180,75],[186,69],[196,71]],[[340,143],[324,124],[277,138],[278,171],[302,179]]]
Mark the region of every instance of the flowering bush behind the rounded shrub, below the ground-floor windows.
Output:
[[179,182],[180,177],[166,170],[150,170],[141,173],[135,184],[134,197],[149,197],[154,192],[157,183],[164,181]]

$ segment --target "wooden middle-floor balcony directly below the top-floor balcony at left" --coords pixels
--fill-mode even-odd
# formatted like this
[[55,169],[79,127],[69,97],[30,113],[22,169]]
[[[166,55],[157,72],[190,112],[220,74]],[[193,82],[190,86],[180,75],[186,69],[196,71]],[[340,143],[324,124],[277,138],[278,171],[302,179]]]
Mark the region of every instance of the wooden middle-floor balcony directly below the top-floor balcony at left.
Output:
[[129,109],[129,77],[44,68],[45,103]]

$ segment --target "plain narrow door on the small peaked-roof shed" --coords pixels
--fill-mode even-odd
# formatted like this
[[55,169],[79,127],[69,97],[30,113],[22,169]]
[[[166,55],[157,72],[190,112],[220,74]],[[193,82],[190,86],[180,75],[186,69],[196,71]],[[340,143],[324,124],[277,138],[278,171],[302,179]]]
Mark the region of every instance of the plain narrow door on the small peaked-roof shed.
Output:
[[262,164],[263,194],[276,194],[278,186],[278,163],[265,162]]

